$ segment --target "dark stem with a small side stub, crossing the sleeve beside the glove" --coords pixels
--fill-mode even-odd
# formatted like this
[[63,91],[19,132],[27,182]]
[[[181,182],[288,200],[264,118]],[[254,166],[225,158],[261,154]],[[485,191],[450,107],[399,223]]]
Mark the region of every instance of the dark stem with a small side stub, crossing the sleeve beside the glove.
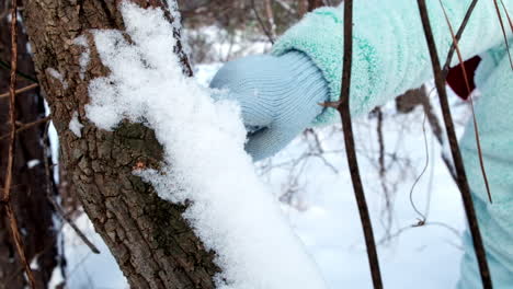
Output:
[[342,119],[344,130],[345,151],[347,163],[353,182],[354,194],[358,206],[360,218],[365,236],[365,245],[367,247],[367,257],[373,277],[375,289],[383,288],[381,274],[379,269],[379,261],[376,251],[376,242],[374,239],[373,226],[368,213],[367,201],[360,176],[358,162],[356,158],[356,149],[354,146],[353,125],[351,123],[350,111],[350,93],[351,93],[351,69],[353,59],[353,1],[344,1],[344,56],[343,56],[343,72],[342,72],[342,89],[339,102],[327,103],[324,106],[337,108]]

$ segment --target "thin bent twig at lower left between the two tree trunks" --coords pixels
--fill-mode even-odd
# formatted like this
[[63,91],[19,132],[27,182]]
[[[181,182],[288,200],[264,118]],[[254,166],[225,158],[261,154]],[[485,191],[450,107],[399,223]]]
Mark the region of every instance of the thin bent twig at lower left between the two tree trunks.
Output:
[[48,163],[48,155],[47,155],[47,151],[48,151],[48,128],[49,128],[49,124],[50,123],[47,123],[46,126],[45,126],[45,132],[43,135],[43,150],[44,150],[44,155],[43,155],[43,160],[44,160],[44,163],[45,163],[45,174],[46,174],[46,198],[49,200],[49,203],[52,204],[52,206],[54,207],[54,209],[57,211],[57,213],[59,215],[59,217],[65,220],[69,227],[71,227],[71,229],[75,231],[75,233],[80,238],[80,240],[82,240],[82,242],[92,251],[92,253],[94,254],[100,254],[100,250],[98,250],[98,247],[86,236],[86,234],[80,231],[80,229],[77,227],[77,224],[75,224],[73,220],[71,219],[71,217],[69,215],[67,215],[62,208],[60,207],[60,205],[55,200],[53,194],[52,194],[52,190],[53,190],[53,185],[54,185],[54,182],[52,182],[52,174],[50,174],[50,165]]

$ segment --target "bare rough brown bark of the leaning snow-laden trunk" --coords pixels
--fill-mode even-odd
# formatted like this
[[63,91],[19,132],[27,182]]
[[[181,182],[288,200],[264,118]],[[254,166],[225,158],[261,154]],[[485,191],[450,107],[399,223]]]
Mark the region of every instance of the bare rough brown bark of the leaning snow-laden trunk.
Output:
[[[88,122],[88,82],[106,76],[91,42],[90,30],[124,27],[118,0],[25,0],[24,22],[34,51],[39,83],[52,107],[69,181],[133,288],[214,288],[219,271],[181,217],[183,206],[161,200],[155,189],[133,175],[134,167],[159,167],[162,148],[152,130],[123,123],[113,132]],[[133,0],[162,7],[163,0]],[[169,1],[174,2],[174,1]],[[168,13],[169,21],[174,21]],[[86,35],[91,61],[83,80],[73,39]],[[175,33],[179,37],[179,32]],[[173,53],[173,51],[170,51]],[[174,53],[183,58],[180,46]],[[52,77],[58,71],[65,82]],[[191,73],[185,68],[185,73]],[[55,74],[55,73],[54,73]],[[75,112],[83,125],[79,138],[68,128]]]

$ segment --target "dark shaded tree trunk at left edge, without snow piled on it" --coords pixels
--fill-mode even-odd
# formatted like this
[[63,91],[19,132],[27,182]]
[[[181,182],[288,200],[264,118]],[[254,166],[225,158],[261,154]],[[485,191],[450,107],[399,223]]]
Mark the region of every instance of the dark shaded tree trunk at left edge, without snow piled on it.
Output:
[[[9,70],[4,67],[11,59],[11,33],[8,21],[8,1],[0,0],[0,94],[8,91]],[[19,23],[21,24],[21,23]],[[27,36],[19,30],[18,51],[19,70],[35,78],[32,56],[27,51]],[[23,78],[19,79],[19,86],[32,84]],[[0,137],[9,132],[8,126],[9,97],[0,97]],[[37,90],[21,93],[16,100],[16,120],[22,124],[43,118],[45,108],[43,97]],[[44,167],[45,154],[43,134],[45,125],[34,126],[18,135],[15,142],[15,158],[13,166],[12,205],[16,220],[22,231],[24,251],[29,262],[37,258],[37,269],[34,270],[38,288],[47,288],[52,273],[57,265],[57,230],[53,222],[53,208],[47,201],[46,174]],[[0,184],[4,183],[8,138],[0,139]],[[32,161],[32,162],[30,162]],[[1,193],[0,193],[1,195]],[[0,205],[0,289],[25,288],[23,265],[20,263],[9,224]]]

